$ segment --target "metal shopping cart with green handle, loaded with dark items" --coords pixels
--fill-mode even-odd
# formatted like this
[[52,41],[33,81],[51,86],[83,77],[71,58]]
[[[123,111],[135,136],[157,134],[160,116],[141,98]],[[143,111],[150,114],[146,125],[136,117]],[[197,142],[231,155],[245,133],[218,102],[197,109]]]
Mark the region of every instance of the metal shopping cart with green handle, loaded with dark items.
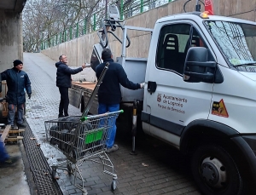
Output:
[[[87,194],[84,189],[84,179],[79,166],[90,160],[103,165],[103,173],[113,175],[112,190],[116,189],[117,175],[114,174],[113,163],[106,153],[110,131],[115,125],[115,119],[119,113],[107,112],[100,115],[84,117],[66,117],[45,121],[46,141],[55,146],[67,157],[67,162],[51,166],[52,178],[56,178],[56,169],[66,169],[74,175],[74,186],[78,187],[83,195]],[[77,179],[82,185],[77,184]]]

